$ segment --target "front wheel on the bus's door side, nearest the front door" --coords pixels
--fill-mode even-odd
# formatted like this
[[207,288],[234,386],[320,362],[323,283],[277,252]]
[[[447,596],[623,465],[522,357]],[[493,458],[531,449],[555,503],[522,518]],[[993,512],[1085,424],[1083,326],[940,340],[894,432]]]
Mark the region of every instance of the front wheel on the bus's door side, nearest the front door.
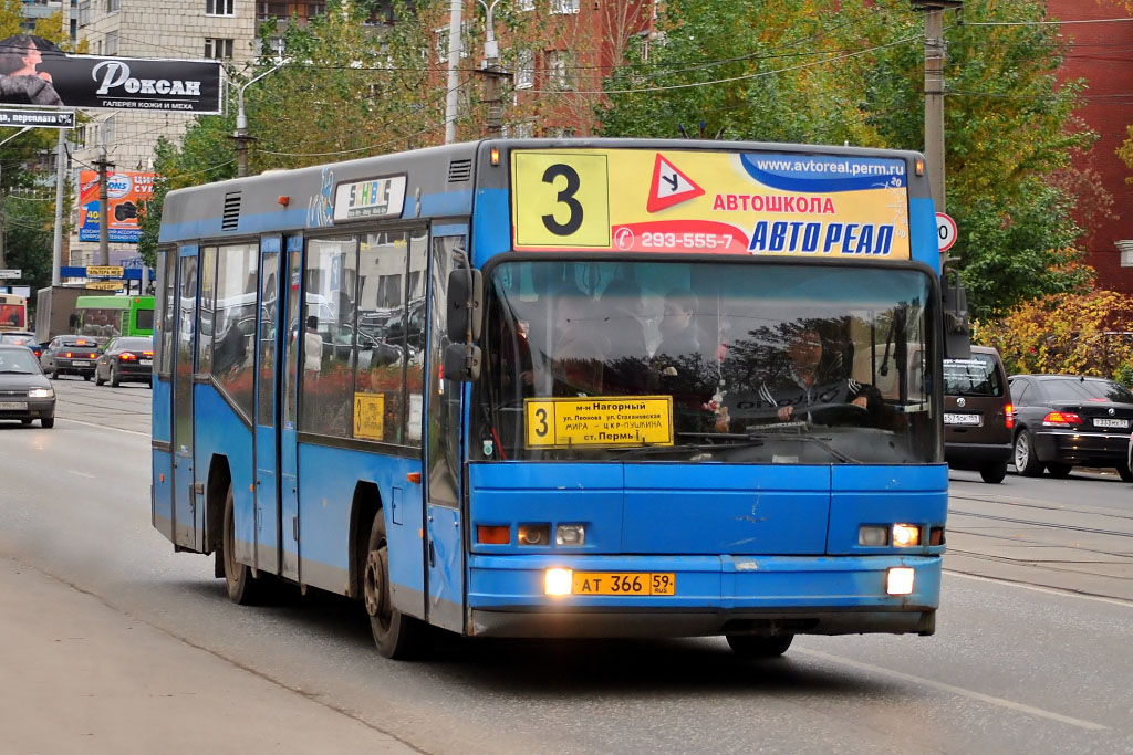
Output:
[[363,602],[369,615],[369,630],[377,652],[394,660],[420,654],[425,645],[426,626],[393,607],[390,590],[390,547],[385,539],[385,517],[378,512],[369,530],[366,566],[363,574]]

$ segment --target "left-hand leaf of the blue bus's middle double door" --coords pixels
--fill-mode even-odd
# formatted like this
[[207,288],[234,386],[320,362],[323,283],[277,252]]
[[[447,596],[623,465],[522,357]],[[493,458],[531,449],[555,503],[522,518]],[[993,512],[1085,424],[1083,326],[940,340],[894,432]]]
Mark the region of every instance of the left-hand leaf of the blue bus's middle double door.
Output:
[[279,379],[281,237],[264,237],[259,242],[259,312],[256,326],[256,555],[255,567],[278,574],[280,564],[280,454]]

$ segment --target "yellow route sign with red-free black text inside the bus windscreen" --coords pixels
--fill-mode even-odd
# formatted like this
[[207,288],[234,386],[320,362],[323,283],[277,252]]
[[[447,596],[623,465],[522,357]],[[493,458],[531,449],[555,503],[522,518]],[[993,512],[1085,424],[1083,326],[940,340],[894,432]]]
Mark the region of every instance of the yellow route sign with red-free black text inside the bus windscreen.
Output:
[[527,448],[672,446],[672,396],[528,398]]

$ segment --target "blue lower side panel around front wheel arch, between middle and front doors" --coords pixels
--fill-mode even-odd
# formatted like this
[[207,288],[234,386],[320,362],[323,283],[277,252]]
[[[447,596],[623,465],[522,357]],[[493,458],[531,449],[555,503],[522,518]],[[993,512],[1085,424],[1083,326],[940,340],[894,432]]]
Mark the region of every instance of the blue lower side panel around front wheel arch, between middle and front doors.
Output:
[[[299,446],[299,573],[304,583],[339,594],[346,592],[355,488],[359,481],[373,482],[381,496],[381,501],[375,503],[381,503],[385,516],[394,606],[411,616],[425,615],[421,486],[408,481],[412,472],[421,472],[419,458],[313,444]],[[394,488],[400,489],[397,523]],[[283,524],[284,529],[290,526],[286,520]],[[361,534],[368,537],[368,530]]]

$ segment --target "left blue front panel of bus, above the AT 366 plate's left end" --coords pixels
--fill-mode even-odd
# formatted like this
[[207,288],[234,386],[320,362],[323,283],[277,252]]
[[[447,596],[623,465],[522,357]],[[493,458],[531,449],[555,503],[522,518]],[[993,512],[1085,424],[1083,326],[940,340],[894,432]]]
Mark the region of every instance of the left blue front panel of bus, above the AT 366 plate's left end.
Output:
[[[624,477],[621,464],[495,463],[470,464],[471,521],[478,525],[585,524],[585,552],[622,550]],[[518,543],[512,527],[508,546],[477,544],[478,552],[539,552]],[[546,548],[543,548],[546,550]]]

